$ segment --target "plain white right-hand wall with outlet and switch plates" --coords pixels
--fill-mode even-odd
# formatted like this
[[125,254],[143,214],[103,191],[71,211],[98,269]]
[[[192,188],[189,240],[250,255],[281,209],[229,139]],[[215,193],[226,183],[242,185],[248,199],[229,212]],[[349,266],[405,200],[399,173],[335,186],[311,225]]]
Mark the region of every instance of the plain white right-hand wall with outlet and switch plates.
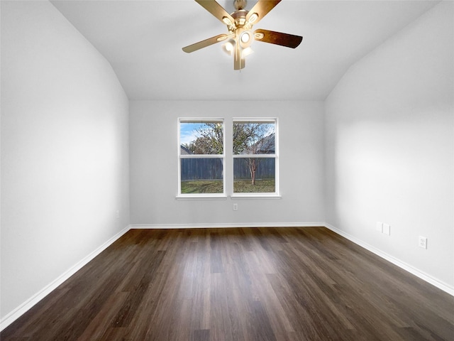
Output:
[[453,14],[452,1],[423,14],[350,67],[326,100],[327,222],[450,288]]

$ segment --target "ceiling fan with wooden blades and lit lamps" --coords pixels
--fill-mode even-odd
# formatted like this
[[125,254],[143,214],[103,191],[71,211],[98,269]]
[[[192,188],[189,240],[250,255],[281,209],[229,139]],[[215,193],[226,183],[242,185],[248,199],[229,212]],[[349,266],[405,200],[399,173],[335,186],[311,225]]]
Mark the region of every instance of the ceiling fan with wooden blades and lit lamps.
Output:
[[267,31],[260,28],[252,31],[253,25],[258,23],[268,12],[275,8],[281,0],[258,0],[257,4],[255,4],[250,11],[245,10],[247,4],[246,0],[234,0],[233,6],[236,11],[231,14],[227,13],[227,11],[215,0],[195,1],[206,9],[206,11],[209,11],[218,18],[218,20],[225,23],[228,33],[219,34],[218,36],[186,46],[183,48],[186,53],[192,53],[201,48],[206,48],[209,45],[225,41],[226,43],[223,44],[223,50],[226,51],[226,53],[233,55],[233,69],[240,70],[245,67],[245,57],[253,52],[250,48],[253,40],[287,46],[287,48],[297,48],[301,43],[301,40],[303,40],[303,37],[301,36]]

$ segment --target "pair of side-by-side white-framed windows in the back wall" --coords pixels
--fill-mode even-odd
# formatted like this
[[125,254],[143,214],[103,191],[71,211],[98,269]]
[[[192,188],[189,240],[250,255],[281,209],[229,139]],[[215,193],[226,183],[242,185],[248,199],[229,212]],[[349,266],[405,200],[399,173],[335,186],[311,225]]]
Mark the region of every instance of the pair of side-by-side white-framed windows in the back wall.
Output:
[[178,128],[178,197],[279,197],[277,119],[233,119],[228,151],[223,119],[179,119]]

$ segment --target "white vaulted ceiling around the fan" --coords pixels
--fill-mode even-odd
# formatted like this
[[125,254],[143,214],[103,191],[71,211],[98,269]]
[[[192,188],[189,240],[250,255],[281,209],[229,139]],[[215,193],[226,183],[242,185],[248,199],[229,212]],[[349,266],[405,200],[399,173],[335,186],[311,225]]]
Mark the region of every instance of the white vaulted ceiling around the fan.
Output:
[[[233,12],[233,0],[218,2]],[[437,3],[283,0],[254,29],[303,36],[301,45],[254,42],[235,71],[220,43],[182,51],[227,31],[193,0],[52,1],[109,60],[130,99],[201,100],[323,100],[350,65]]]

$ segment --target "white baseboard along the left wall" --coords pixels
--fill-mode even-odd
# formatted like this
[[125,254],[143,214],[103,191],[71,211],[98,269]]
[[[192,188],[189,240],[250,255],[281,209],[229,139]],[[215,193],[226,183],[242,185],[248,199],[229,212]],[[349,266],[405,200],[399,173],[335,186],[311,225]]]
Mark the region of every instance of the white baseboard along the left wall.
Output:
[[100,247],[98,247],[96,250],[94,250],[91,254],[88,256],[84,257],[84,259],[80,260],[77,262],[77,264],[74,264],[70,269],[65,271],[62,275],[60,275],[58,278],[56,278],[54,281],[49,283],[47,286],[45,286],[43,289],[38,291],[38,293],[35,293],[35,295],[31,296],[31,298],[28,298],[27,301],[19,305],[16,309],[11,311],[11,313],[7,314],[4,318],[0,320],[0,331],[4,330],[6,327],[11,325],[15,320],[21,317],[24,313],[26,313],[30,308],[33,307],[36,303],[41,301],[45,296],[48,296],[48,294],[55,290],[58,286],[60,286],[63,282],[65,282],[68,278],[70,278],[72,275],[74,275],[77,271],[82,269],[84,265],[89,263],[89,261],[92,261],[94,257],[96,257],[98,254],[100,254],[102,251],[107,249],[109,245],[113,244],[118,238],[123,236],[126,232],[129,231],[129,226],[125,227],[122,229],[120,232],[114,235],[114,237],[111,237],[107,242],[102,244]]

